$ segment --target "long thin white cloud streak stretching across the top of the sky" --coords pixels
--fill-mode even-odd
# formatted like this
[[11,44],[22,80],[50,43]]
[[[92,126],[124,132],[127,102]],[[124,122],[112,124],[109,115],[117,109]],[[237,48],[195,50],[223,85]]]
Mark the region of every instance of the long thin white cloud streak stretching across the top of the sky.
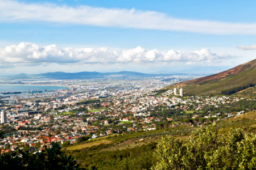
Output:
[[228,23],[172,18],[161,12],[90,6],[57,6],[52,3],[22,3],[0,0],[0,22],[52,22],[188,31],[217,35],[256,35],[256,23]]

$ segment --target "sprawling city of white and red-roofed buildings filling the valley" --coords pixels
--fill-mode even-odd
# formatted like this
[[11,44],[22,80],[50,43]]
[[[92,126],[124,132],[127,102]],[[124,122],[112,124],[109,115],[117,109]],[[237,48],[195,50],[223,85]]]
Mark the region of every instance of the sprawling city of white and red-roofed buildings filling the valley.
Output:
[[[159,78],[42,80],[25,84],[66,86],[43,93],[1,96],[1,152],[40,152],[52,142],[72,145],[112,134],[136,133],[181,124],[198,126],[246,113],[230,96],[186,96]],[[169,83],[170,84],[170,83]],[[183,95],[184,93],[184,95]]]

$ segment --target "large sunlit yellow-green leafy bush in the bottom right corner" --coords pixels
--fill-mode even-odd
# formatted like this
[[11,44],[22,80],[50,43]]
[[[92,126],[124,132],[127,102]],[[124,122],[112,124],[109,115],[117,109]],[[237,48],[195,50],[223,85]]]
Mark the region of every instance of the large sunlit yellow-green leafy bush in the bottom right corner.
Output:
[[163,137],[154,169],[255,169],[256,136],[242,129],[218,135],[216,125],[197,129],[185,141]]

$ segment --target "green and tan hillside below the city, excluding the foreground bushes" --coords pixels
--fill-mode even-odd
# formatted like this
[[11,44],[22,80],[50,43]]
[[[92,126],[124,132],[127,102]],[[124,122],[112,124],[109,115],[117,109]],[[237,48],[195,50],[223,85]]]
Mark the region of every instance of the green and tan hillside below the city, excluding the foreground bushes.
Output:
[[[232,129],[238,128],[255,134],[255,123],[256,112],[218,121],[218,135],[228,135]],[[162,137],[185,141],[199,128],[200,126],[181,124],[176,128],[117,134],[72,145],[63,150],[74,156],[77,163],[85,169],[151,169],[156,165],[155,153]]]

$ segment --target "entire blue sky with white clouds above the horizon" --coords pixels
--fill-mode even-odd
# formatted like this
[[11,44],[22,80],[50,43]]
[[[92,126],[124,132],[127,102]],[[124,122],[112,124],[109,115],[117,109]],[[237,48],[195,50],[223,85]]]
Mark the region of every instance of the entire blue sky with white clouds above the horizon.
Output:
[[256,58],[255,5],[0,0],[0,75],[228,69]]

